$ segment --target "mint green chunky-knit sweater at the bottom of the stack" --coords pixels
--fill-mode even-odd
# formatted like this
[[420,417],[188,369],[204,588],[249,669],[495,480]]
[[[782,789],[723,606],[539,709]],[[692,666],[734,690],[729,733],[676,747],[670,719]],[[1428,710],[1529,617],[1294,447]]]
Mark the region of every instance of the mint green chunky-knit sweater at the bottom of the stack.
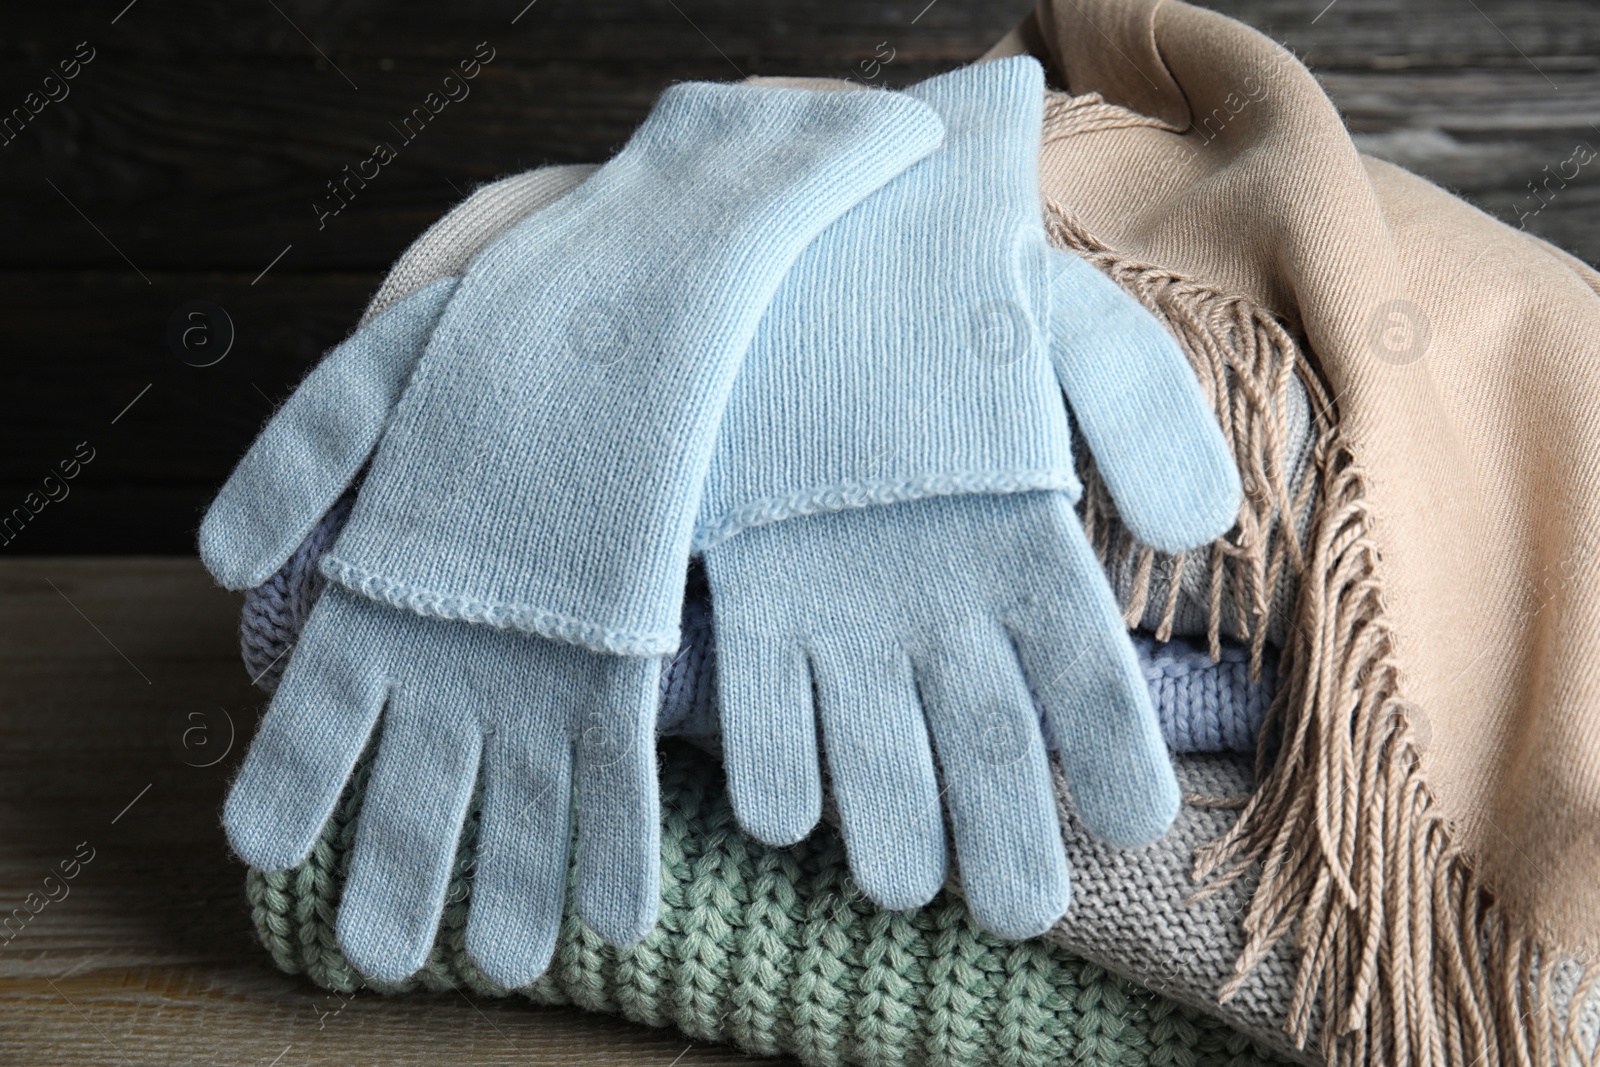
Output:
[[427,966],[382,985],[339,952],[333,925],[365,765],[306,864],[250,872],[256,931],[282,969],[341,993],[459,987],[517,995],[816,1065],[1283,1062],[1203,1013],[1061,949],[986,934],[952,893],[912,912],[877,909],[856,891],[827,824],[782,849],[744,837],[720,766],[686,744],[662,745],[661,779],[656,929],[614,949],[568,910],[550,969],[515,993],[485,977],[464,949],[475,805]]

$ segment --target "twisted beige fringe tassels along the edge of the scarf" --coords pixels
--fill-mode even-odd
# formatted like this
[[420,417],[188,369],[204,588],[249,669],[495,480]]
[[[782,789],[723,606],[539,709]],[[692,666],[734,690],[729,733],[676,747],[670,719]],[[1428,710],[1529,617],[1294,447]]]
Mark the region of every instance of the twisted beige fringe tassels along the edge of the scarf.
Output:
[[[1298,1048],[1320,1046],[1328,1067],[1600,1062],[1579,1040],[1600,968],[1581,969],[1571,1011],[1555,1005],[1560,953],[1518,933],[1432,801],[1421,766],[1427,720],[1400,696],[1365,472],[1302,347],[1250,302],[1120,256],[1054,203],[1048,216],[1058,246],[1094,262],[1178,338],[1240,464],[1238,525],[1206,560],[1213,656],[1230,593],[1232,637],[1250,643],[1259,675],[1283,568],[1299,582],[1258,787],[1195,857],[1194,878],[1208,883],[1200,894],[1261,872],[1219,1001],[1293,937],[1299,969],[1283,1029]],[[1310,397],[1315,438],[1293,496],[1291,376]],[[1101,558],[1138,553],[1133,625],[1146,614],[1155,553],[1117,522],[1098,475],[1083,474],[1085,528]],[[1294,534],[1307,518],[1302,547]],[[1171,637],[1184,557],[1171,568],[1160,640]]]

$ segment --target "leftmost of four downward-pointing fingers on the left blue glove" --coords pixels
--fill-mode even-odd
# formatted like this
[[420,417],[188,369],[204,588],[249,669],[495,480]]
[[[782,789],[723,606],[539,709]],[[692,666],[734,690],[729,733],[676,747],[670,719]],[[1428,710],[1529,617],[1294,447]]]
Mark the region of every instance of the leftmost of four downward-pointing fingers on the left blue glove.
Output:
[[227,840],[251,867],[286,870],[310,854],[373,733],[387,680],[363,657],[386,608],[328,585],[222,808]]

